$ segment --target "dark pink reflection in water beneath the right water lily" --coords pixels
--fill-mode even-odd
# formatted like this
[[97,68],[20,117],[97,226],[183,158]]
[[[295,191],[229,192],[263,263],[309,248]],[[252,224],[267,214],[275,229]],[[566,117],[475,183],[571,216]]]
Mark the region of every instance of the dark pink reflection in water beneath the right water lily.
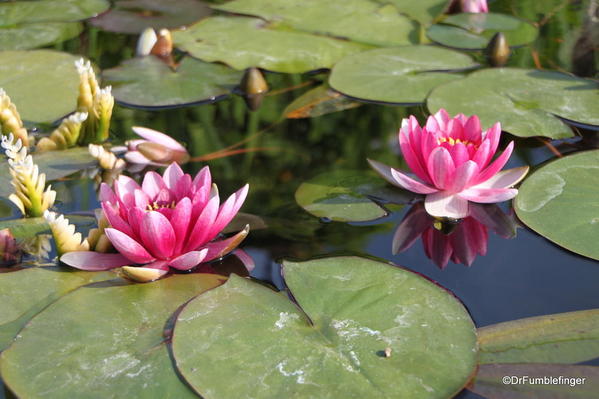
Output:
[[443,269],[451,260],[472,265],[478,255],[486,255],[489,229],[504,238],[513,238],[516,223],[497,205],[472,204],[468,217],[461,220],[430,216],[424,204],[413,205],[393,236],[393,254],[410,248],[422,238],[424,253]]

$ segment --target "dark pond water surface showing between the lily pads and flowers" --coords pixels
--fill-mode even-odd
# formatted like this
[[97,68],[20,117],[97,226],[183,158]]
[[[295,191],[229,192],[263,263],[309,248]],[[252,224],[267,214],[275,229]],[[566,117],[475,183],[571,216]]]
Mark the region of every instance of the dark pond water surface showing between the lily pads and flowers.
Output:
[[[534,45],[516,49],[508,65],[534,68],[540,63],[548,69],[573,71],[576,65],[570,61],[569,48],[580,29],[587,3],[556,1],[556,7],[547,15],[535,12],[535,3],[532,0],[490,2],[494,11],[542,21],[539,39]],[[79,38],[56,47],[85,55],[104,70],[131,57],[135,41],[134,36],[86,26]],[[420,238],[404,251],[393,253],[395,231],[411,205],[389,205],[388,216],[363,223],[318,219],[303,210],[294,198],[302,182],[332,170],[368,170],[367,158],[399,165],[397,131],[402,118],[413,114],[423,121],[428,115],[424,106],[364,103],[316,118],[281,117],[293,99],[324,78],[322,73],[266,73],[271,93],[255,112],[249,111],[243,99],[235,95],[214,104],[182,109],[146,111],[117,106],[110,140],[122,143],[134,137],[132,126],[145,126],[168,132],[185,144],[192,158],[240,141],[244,142],[239,148],[260,148],[257,152],[210,160],[207,164],[225,195],[245,182],[250,184],[250,195],[242,211],[262,217],[268,227],[253,230],[243,248],[256,264],[251,276],[280,289],[284,288],[279,266],[282,259],[350,254],[389,261],[437,282],[463,302],[477,327],[599,308],[597,262],[533,232],[518,221],[507,203],[501,211],[515,224],[515,236],[504,238],[489,229],[488,242],[483,245],[486,251],[482,251],[486,254],[475,256],[469,266],[449,260],[444,267],[431,260],[430,252],[427,256]],[[505,146],[509,140],[516,140],[517,150],[506,167],[529,165],[534,170],[555,159],[552,148],[543,140],[504,134],[501,145]],[[583,143],[579,137],[553,145],[562,154],[591,148],[589,141]],[[195,173],[204,164],[190,162],[184,169]],[[64,178],[54,187],[58,192],[59,212],[85,213],[100,206],[96,184],[82,174]],[[18,216],[14,207],[11,212],[3,219]],[[439,248],[430,249],[432,257],[441,256]],[[588,364],[599,365],[599,362]],[[464,391],[458,397],[479,396]]]

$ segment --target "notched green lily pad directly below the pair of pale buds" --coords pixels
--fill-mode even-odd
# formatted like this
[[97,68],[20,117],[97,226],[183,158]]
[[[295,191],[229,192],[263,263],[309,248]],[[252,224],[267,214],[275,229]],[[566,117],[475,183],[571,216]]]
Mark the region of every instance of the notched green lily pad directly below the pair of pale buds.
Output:
[[180,107],[216,101],[230,93],[241,73],[186,57],[176,71],[153,56],[138,57],[103,72],[116,100],[141,108]]

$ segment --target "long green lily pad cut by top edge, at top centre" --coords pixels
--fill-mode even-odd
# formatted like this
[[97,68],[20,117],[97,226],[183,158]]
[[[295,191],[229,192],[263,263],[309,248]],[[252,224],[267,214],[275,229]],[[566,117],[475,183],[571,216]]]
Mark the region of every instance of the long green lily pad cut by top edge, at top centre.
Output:
[[414,22],[393,5],[370,0],[235,0],[214,8],[375,46],[410,44],[417,39]]

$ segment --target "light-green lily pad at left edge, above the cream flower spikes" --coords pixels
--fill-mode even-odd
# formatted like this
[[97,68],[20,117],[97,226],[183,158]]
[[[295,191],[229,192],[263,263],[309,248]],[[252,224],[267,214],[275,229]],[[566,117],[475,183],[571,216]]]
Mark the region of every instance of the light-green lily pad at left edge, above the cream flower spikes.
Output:
[[77,107],[80,57],[50,50],[1,51],[0,87],[29,122],[54,122]]

